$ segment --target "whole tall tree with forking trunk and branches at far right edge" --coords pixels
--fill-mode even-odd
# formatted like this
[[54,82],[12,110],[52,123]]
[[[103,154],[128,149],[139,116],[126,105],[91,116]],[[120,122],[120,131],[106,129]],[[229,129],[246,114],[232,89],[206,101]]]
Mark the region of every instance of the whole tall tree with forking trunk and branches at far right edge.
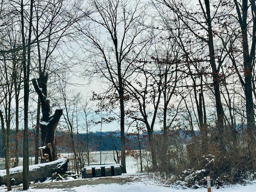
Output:
[[[239,34],[236,40],[230,43],[227,50],[232,64],[236,69],[236,73],[244,90],[246,100],[246,120],[248,134],[248,148],[250,155],[253,156],[253,166],[256,166],[256,125],[254,113],[254,100],[252,95],[253,73],[255,67],[256,54],[256,4],[254,0],[234,0],[234,8],[236,10],[235,21],[238,21],[238,28],[235,34]],[[235,22],[235,23],[236,23]],[[233,32],[233,31],[232,31]],[[237,51],[237,46],[241,47],[241,51]],[[242,54],[242,63],[237,58],[237,53]]]

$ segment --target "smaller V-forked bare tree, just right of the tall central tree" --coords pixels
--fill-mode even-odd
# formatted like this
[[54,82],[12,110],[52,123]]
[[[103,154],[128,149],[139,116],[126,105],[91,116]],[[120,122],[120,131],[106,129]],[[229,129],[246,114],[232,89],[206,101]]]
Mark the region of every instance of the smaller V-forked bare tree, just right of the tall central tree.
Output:
[[[140,111],[141,117],[131,116],[135,120],[144,122],[148,132],[148,140],[151,146],[152,153],[152,165],[154,168],[157,167],[156,158],[154,155],[154,125],[156,122],[158,109],[160,105],[160,99],[162,95],[161,83],[159,76],[148,72],[149,66],[144,64],[143,68],[140,68],[140,76],[135,79],[136,84],[126,82],[129,86],[127,91],[132,96],[133,107]],[[138,88],[142,87],[142,89]],[[148,106],[152,105],[152,109],[148,110]],[[130,109],[132,111],[132,109]],[[152,114],[152,115],[150,115]]]

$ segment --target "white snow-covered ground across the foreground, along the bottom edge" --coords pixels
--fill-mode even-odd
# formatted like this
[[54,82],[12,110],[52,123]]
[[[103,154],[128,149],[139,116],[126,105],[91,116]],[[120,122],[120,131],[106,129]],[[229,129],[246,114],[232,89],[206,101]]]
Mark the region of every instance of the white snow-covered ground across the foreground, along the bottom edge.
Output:
[[[124,176],[124,175],[122,175]],[[120,177],[122,177],[120,176]],[[136,176],[136,175],[135,175]],[[54,185],[61,185],[61,181],[52,183]],[[5,186],[0,186],[0,192],[7,191]],[[220,189],[212,188],[212,192],[255,192],[256,181],[246,185],[232,185]],[[22,192],[20,190],[13,190],[12,192]],[[64,188],[64,189],[36,189],[30,188],[26,192],[207,192],[207,188],[198,189],[184,189],[179,186],[163,186],[159,182],[152,180],[134,181],[126,184],[98,184],[98,185],[84,185],[79,187]]]

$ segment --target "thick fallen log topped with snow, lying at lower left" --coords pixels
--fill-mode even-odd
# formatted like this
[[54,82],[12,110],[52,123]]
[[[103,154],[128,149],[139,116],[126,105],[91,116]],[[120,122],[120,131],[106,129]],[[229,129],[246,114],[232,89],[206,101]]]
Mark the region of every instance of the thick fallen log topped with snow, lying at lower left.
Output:
[[[60,158],[58,160],[30,165],[29,166],[29,181],[40,180],[46,177],[52,177],[54,172],[57,174],[64,174],[68,170],[68,160],[66,158]],[[22,166],[10,168],[10,178],[12,185],[21,184],[22,178]],[[0,170],[0,185],[6,185],[6,170]]]

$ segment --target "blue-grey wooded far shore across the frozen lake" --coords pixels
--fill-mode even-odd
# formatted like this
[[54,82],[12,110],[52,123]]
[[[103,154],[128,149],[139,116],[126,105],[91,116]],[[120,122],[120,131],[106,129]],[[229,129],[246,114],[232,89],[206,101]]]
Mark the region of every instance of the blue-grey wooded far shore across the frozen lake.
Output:
[[[19,151],[20,157],[22,157],[22,142],[23,142],[23,131],[21,130],[18,134],[19,139]],[[15,151],[15,130],[11,130],[10,137],[10,153],[11,158],[14,157]],[[145,149],[145,143],[147,140],[147,134],[126,134],[126,146],[127,149],[138,150],[138,137],[140,138],[140,148]],[[30,156],[34,156],[35,152],[35,142],[34,142],[34,130],[29,130],[29,153]],[[68,132],[56,131],[57,149],[58,153],[71,152],[70,149],[70,134]],[[102,132],[101,147],[100,147],[100,132],[90,132],[88,135],[86,133],[74,134],[75,144],[78,142],[83,142],[83,146],[89,144],[90,151],[108,151],[108,150],[120,150],[120,132]],[[3,135],[0,132],[0,157],[4,157],[4,147],[3,147]],[[41,141],[40,141],[41,143]]]

